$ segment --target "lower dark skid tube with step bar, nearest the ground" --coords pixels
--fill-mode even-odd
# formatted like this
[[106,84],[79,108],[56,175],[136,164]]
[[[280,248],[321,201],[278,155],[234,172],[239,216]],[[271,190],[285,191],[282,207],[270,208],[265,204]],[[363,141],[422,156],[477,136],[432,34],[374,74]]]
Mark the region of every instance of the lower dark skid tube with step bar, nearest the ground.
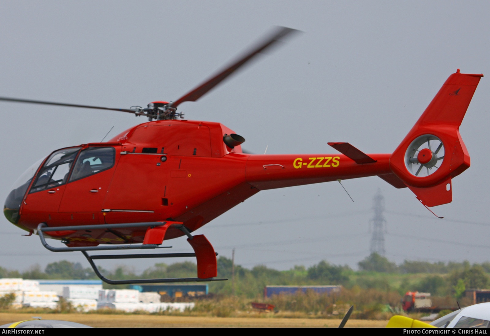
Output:
[[[87,258],[88,262],[90,263],[90,266],[92,266],[92,269],[94,270],[95,274],[102,280],[103,282],[107,284],[156,284],[156,283],[187,283],[187,282],[208,282],[208,281],[223,281],[223,280],[228,280],[228,279],[215,279],[215,278],[208,278],[208,279],[200,279],[200,278],[169,278],[169,279],[135,279],[135,280],[110,280],[105,278],[100,272],[98,271],[97,266],[95,265],[94,261],[92,259],[126,259],[126,258],[145,258],[145,257],[140,257],[140,256],[146,256],[146,258],[158,258],[158,257],[152,257],[153,255],[114,255],[114,256],[89,256],[87,252],[82,251],[83,255],[85,258]],[[195,253],[169,253],[167,255],[179,255],[177,257],[194,257],[196,256]],[[137,257],[135,257],[137,256]],[[162,256],[162,255],[157,255],[155,254],[154,256]],[[114,258],[114,257],[120,257],[120,258]],[[164,257],[165,258],[165,257]],[[172,258],[167,256],[167,258]]]

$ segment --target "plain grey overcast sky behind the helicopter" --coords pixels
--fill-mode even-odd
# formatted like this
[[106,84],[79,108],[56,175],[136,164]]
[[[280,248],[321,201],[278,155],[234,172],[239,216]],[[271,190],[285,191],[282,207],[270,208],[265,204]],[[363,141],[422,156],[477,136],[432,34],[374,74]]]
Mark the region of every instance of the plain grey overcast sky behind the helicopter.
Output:
[[[176,100],[271,26],[305,32],[196,103],[179,109],[221,122],[254,153],[336,153],[348,141],[391,153],[446,78],[489,74],[488,1],[8,1],[0,2],[0,96],[128,108]],[[408,189],[377,178],[262,191],[197,233],[246,267],[289,269],[369,253],[378,188],[386,198],[387,257],[489,260],[489,79],[482,78],[461,134],[471,167],[453,202],[422,207]],[[96,142],[145,122],[114,111],[0,103],[0,199],[51,151]],[[111,136],[109,136],[110,138]],[[55,254],[0,219],[0,266],[25,269]],[[190,251],[185,239],[170,241]],[[168,262],[168,260],[166,260]],[[137,272],[155,260],[128,264]],[[101,264],[112,268],[110,262]]]

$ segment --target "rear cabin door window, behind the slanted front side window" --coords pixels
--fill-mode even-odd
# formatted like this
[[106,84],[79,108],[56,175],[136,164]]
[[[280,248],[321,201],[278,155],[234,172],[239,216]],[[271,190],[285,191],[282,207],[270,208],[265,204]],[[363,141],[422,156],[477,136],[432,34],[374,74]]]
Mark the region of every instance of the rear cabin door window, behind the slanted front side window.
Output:
[[116,150],[113,147],[90,147],[78,155],[70,182],[86,178],[114,166]]

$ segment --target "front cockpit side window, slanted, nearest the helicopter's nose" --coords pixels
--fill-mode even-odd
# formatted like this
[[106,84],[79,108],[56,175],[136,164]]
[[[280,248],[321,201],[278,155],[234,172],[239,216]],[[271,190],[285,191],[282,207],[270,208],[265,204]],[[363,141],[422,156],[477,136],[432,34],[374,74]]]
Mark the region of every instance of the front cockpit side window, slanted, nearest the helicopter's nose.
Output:
[[66,148],[51,154],[37,174],[29,193],[65,184],[79,150],[80,147]]

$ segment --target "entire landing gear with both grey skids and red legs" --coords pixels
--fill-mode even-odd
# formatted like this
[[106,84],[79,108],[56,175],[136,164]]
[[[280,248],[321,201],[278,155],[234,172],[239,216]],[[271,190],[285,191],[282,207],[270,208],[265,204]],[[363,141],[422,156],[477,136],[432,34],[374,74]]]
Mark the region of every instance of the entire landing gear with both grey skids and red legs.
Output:
[[[188,236],[187,241],[194,249],[194,253],[160,253],[160,254],[136,254],[136,255],[100,255],[90,256],[87,251],[109,251],[109,250],[148,250],[171,248],[172,246],[159,246],[162,244],[165,233],[170,226],[181,230]],[[122,229],[147,227],[143,244],[138,245],[113,245],[113,246],[82,246],[82,247],[53,247],[44,237],[45,232],[53,231],[80,231],[96,229]],[[209,282],[224,281],[228,279],[215,279],[218,273],[216,256],[213,246],[203,234],[191,235],[187,228],[178,222],[147,222],[147,223],[125,223],[125,224],[101,224],[81,225],[49,228],[46,223],[40,223],[37,233],[43,246],[51,252],[73,252],[80,251],[92,266],[95,274],[107,284],[156,284],[156,283],[183,283],[183,282]],[[110,280],[100,274],[93,260],[98,259],[130,259],[130,258],[181,258],[196,257],[197,278],[169,278],[169,279],[135,279],[135,280]]]

